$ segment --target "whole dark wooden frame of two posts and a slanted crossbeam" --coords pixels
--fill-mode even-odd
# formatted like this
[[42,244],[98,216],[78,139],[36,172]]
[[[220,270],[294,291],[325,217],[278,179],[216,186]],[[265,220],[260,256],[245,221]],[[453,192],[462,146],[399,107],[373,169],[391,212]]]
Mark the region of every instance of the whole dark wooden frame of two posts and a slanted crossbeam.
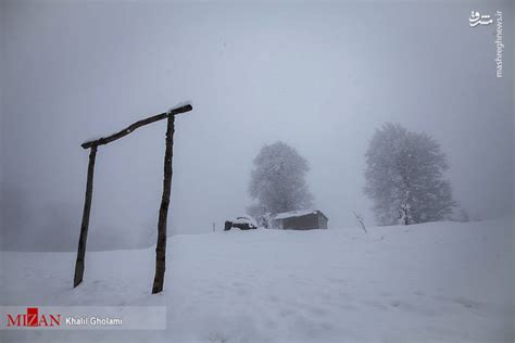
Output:
[[168,216],[168,205],[169,205],[169,194],[172,190],[172,157],[173,157],[173,147],[174,147],[174,131],[175,131],[175,115],[189,112],[193,110],[190,104],[183,105],[168,112],[156,114],[154,116],[148,117],[146,119],[136,122],[123,130],[113,134],[108,137],[99,138],[97,140],[91,140],[83,143],[80,147],[84,149],[90,149],[89,151],[89,164],[88,164],[88,178],[86,182],[86,195],[84,200],[84,212],[83,212],[83,223],[80,225],[80,236],[78,239],[77,247],[77,259],[75,262],[75,275],[73,287],[83,282],[84,277],[84,267],[85,267],[85,256],[86,256],[86,241],[88,238],[88,227],[89,227],[89,215],[91,213],[91,199],[93,192],[93,174],[95,174],[95,160],[97,157],[97,148],[99,145],[109,144],[122,137],[125,137],[140,128],[141,126],[155,123],[162,119],[167,119],[166,126],[166,150],[164,153],[164,179],[163,179],[163,194],[161,196],[161,206],[159,212],[158,220],[158,244],[155,246],[155,276],[154,282],[152,285],[152,294],[159,293],[163,290],[164,283],[164,270],[166,264],[166,221]]

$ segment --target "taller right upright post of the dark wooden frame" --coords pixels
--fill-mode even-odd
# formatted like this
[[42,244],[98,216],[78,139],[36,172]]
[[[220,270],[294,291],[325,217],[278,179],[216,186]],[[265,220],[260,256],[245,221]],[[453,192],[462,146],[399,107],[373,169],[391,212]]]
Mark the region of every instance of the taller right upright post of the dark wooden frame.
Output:
[[169,193],[172,188],[172,157],[174,154],[174,115],[168,116],[166,128],[166,150],[164,153],[163,195],[158,221],[158,245],[155,246],[155,277],[152,294],[163,290],[164,270],[166,264],[166,221],[168,217]]

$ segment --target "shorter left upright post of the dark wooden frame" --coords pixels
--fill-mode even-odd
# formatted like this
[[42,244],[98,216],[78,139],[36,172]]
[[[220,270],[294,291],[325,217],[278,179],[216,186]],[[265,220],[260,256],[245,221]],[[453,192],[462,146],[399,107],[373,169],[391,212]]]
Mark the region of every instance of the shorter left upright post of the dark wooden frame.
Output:
[[83,224],[80,225],[80,237],[78,238],[77,261],[75,262],[75,277],[73,287],[83,282],[84,258],[86,256],[86,241],[88,239],[89,213],[91,212],[91,198],[93,193],[95,158],[97,157],[97,145],[91,145],[89,151],[88,180],[86,182],[86,196],[84,200]]

